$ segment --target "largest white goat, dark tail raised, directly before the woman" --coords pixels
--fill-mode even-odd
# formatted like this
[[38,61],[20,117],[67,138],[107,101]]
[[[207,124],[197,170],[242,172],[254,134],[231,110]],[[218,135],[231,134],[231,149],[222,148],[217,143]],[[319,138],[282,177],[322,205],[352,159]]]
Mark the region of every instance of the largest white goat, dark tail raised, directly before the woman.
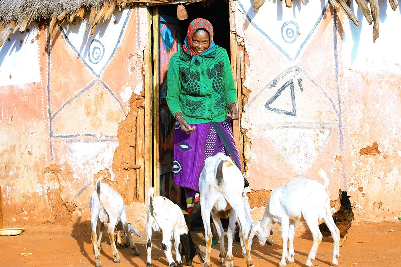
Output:
[[[254,221],[242,197],[243,190],[244,177],[230,157],[220,152],[205,160],[205,166],[199,177],[200,207],[207,247],[204,267],[212,265],[210,252],[213,235],[210,227],[210,214],[220,238],[220,263],[225,263],[227,267],[234,266],[232,250],[234,226],[237,221],[240,229],[242,252],[247,257],[247,266],[253,267],[249,250],[251,246],[249,246],[248,237]],[[221,225],[220,217],[225,218],[227,216],[229,216],[229,226],[227,230],[228,248],[226,254],[224,229]]]

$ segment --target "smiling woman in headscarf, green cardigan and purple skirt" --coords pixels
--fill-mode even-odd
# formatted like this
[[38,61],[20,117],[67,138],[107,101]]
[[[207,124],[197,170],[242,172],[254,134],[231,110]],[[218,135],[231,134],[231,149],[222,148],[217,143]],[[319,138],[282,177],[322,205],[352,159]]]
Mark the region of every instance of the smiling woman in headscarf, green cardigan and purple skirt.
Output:
[[230,120],[238,119],[227,51],[213,42],[213,26],[195,19],[168,66],[167,104],[176,118],[174,181],[184,187],[192,227],[203,225],[198,180],[207,157],[223,152],[241,169]]

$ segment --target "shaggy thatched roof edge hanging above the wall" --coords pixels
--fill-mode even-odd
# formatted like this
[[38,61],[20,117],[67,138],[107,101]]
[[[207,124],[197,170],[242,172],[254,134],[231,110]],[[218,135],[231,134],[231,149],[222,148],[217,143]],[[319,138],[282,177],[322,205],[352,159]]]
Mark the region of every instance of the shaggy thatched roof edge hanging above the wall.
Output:
[[[111,18],[117,7],[123,10],[126,5],[160,5],[175,3],[191,3],[203,0],[1,0],[0,2],[0,47],[11,33],[25,31],[36,21],[49,21],[50,36],[54,37],[64,21],[72,22],[74,18],[83,18],[89,14],[86,30],[93,34],[96,25]],[[254,11],[257,13],[265,0],[254,0]],[[359,27],[358,19],[351,11],[351,0],[329,0],[330,4],[339,11],[342,9],[353,23]],[[379,37],[379,4],[378,0],[355,0],[369,24],[373,24],[373,42]],[[285,0],[287,7],[292,7],[291,0]],[[302,0],[304,3],[304,0]],[[389,0],[390,6],[397,9],[396,0]],[[369,9],[370,7],[370,9]]]

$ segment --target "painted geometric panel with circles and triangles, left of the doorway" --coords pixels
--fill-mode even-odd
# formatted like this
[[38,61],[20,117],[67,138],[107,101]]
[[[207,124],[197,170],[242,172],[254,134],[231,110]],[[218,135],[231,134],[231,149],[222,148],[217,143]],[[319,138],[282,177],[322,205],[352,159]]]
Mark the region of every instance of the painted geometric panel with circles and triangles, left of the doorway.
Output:
[[[85,22],[67,24],[61,28],[65,41],[52,46],[48,60],[51,66],[59,66],[52,67],[49,74],[52,150],[62,151],[54,146],[66,145],[68,151],[75,151],[71,153],[75,166],[82,166],[89,159],[100,161],[103,168],[111,166],[112,157],[106,157],[108,161],[104,162],[104,155],[112,155],[118,146],[118,123],[129,111],[129,97],[124,97],[126,86],[119,81],[128,62],[120,61],[119,50],[122,39],[128,35],[127,23],[136,24],[133,28],[139,32],[138,19],[136,9],[116,10],[110,20],[97,26],[93,36],[85,32]],[[74,59],[73,64],[64,65],[68,57]],[[115,68],[116,65],[120,67]],[[70,77],[67,84],[60,81],[63,76]],[[63,90],[53,92],[52,88]],[[128,90],[132,93],[131,88]],[[54,151],[51,153],[57,153]],[[99,170],[96,165],[92,168],[92,172]]]

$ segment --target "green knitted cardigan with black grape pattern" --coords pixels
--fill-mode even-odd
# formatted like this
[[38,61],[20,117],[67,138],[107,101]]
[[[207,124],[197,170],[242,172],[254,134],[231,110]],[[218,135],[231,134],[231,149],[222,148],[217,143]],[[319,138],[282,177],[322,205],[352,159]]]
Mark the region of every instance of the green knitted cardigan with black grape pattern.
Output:
[[237,102],[237,90],[226,49],[217,47],[190,66],[191,57],[181,48],[170,58],[167,73],[167,104],[171,113],[181,112],[187,123],[221,122],[228,107]]

